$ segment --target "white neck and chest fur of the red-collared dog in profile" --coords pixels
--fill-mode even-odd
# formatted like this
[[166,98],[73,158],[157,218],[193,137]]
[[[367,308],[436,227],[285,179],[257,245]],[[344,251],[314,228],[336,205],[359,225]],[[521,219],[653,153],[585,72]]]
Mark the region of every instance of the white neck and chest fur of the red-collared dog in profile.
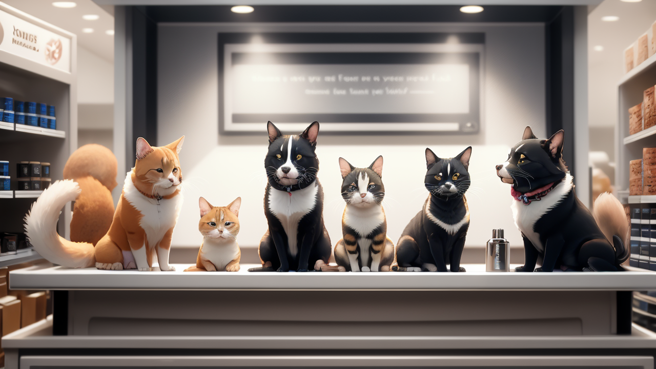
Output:
[[524,205],[521,201],[512,200],[512,217],[515,220],[516,227],[531,241],[538,251],[544,251],[544,245],[540,242],[540,235],[533,230],[535,222],[540,219],[544,213],[552,207],[558,205],[569,193],[573,186],[573,177],[567,173],[562,183],[554,187],[551,192],[540,199],[533,201],[531,204]]

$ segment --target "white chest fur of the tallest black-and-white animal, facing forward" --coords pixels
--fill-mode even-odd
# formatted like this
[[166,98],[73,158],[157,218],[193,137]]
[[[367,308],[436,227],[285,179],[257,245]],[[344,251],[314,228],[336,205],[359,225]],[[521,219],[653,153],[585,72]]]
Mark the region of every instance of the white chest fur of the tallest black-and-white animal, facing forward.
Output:
[[298,253],[298,222],[316,206],[316,195],[319,190],[317,183],[301,190],[289,192],[269,188],[269,211],[280,221],[287,234],[289,253]]

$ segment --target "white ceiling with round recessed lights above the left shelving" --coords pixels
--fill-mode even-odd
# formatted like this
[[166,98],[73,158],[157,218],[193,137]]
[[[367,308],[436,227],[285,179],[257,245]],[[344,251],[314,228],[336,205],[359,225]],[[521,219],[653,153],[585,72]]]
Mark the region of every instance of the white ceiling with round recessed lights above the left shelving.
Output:
[[[77,7],[70,9],[52,6],[54,0],[2,0],[3,3],[45,20],[54,26],[77,35],[77,45],[84,47],[101,58],[114,60],[114,37],[106,35],[106,30],[114,29],[112,14],[104,11],[91,0],[73,0]],[[98,14],[97,20],[83,20],[85,14]],[[83,28],[93,28],[93,33],[83,33]]]

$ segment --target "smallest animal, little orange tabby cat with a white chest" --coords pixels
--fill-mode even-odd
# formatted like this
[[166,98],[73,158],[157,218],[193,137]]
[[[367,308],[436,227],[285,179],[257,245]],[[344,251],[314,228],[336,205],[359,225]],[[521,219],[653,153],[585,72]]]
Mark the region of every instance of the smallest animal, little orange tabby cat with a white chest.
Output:
[[185,272],[239,271],[239,206],[241,198],[236,198],[226,207],[213,207],[204,198],[198,199],[201,210],[198,230],[203,234],[203,244],[198,251],[196,266],[185,269]]

